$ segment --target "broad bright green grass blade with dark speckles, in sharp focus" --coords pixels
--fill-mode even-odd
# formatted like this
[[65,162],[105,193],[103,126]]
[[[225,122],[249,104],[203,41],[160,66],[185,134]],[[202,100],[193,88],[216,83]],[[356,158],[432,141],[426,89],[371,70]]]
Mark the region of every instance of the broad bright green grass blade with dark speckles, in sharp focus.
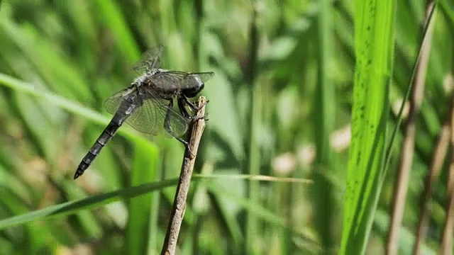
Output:
[[355,86],[339,254],[363,254],[382,190],[396,2],[355,1]]

